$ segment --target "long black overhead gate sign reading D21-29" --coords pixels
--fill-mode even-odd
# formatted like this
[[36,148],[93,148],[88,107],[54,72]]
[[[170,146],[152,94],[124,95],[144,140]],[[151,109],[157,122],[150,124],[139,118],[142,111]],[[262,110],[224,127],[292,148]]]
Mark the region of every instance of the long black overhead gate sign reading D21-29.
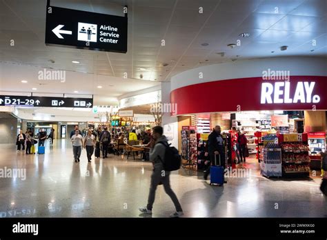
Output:
[[93,99],[80,99],[72,97],[26,97],[0,95],[0,106],[92,108]]

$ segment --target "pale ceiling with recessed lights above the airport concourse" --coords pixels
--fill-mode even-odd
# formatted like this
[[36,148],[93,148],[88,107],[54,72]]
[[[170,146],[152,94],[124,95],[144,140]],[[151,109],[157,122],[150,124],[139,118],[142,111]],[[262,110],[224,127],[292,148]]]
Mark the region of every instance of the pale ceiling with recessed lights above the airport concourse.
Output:
[[[149,88],[155,81],[170,81],[175,74],[201,65],[235,59],[327,55],[327,0],[52,0],[51,5],[118,15],[123,15],[122,8],[127,5],[128,52],[46,46],[46,0],[0,0],[2,63],[89,73],[85,81],[74,79],[63,88],[40,87],[43,92],[69,92],[74,84],[74,89],[78,87],[86,94],[117,97],[131,89]],[[199,13],[199,7],[203,13]],[[242,32],[251,35],[241,38]],[[10,39],[15,46],[10,46]],[[161,39],[166,46],[161,46]],[[227,45],[237,43],[237,39],[241,46],[230,49]],[[284,45],[289,48],[281,52],[279,47]],[[224,57],[217,52],[225,52]],[[50,63],[50,59],[55,62]],[[73,60],[80,63],[74,64]],[[19,78],[26,72],[16,69],[9,72],[12,77],[6,74],[8,79],[2,79],[9,83],[1,83],[1,90],[26,88]],[[7,67],[3,70],[8,72]],[[133,79],[143,74],[143,80],[126,84],[124,72]],[[101,85],[106,88],[99,90],[95,79],[101,75]],[[112,89],[107,88],[109,82],[113,82]]]

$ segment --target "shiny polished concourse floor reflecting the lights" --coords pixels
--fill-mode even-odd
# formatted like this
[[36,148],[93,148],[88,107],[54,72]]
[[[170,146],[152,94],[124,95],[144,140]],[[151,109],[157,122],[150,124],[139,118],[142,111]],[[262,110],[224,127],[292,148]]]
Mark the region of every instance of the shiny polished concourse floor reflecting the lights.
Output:
[[[150,217],[138,208],[146,205],[151,163],[114,155],[93,156],[88,163],[85,150],[75,163],[65,140],[46,146],[44,155],[17,153],[13,145],[0,145],[0,151],[0,217]],[[13,169],[25,169],[26,179],[23,172],[8,177]],[[253,172],[228,179],[224,187],[210,186],[200,172],[183,168],[170,181],[184,217],[327,217],[320,178],[266,179]],[[159,186],[152,217],[172,211]]]

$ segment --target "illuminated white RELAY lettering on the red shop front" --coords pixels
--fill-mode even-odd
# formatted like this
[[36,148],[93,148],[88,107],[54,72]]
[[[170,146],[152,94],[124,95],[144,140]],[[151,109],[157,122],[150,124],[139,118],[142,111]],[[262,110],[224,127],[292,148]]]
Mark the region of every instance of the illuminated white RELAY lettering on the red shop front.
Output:
[[277,81],[275,83],[262,83],[261,103],[319,103],[320,97],[313,93],[314,81],[299,81],[292,94],[290,81]]

